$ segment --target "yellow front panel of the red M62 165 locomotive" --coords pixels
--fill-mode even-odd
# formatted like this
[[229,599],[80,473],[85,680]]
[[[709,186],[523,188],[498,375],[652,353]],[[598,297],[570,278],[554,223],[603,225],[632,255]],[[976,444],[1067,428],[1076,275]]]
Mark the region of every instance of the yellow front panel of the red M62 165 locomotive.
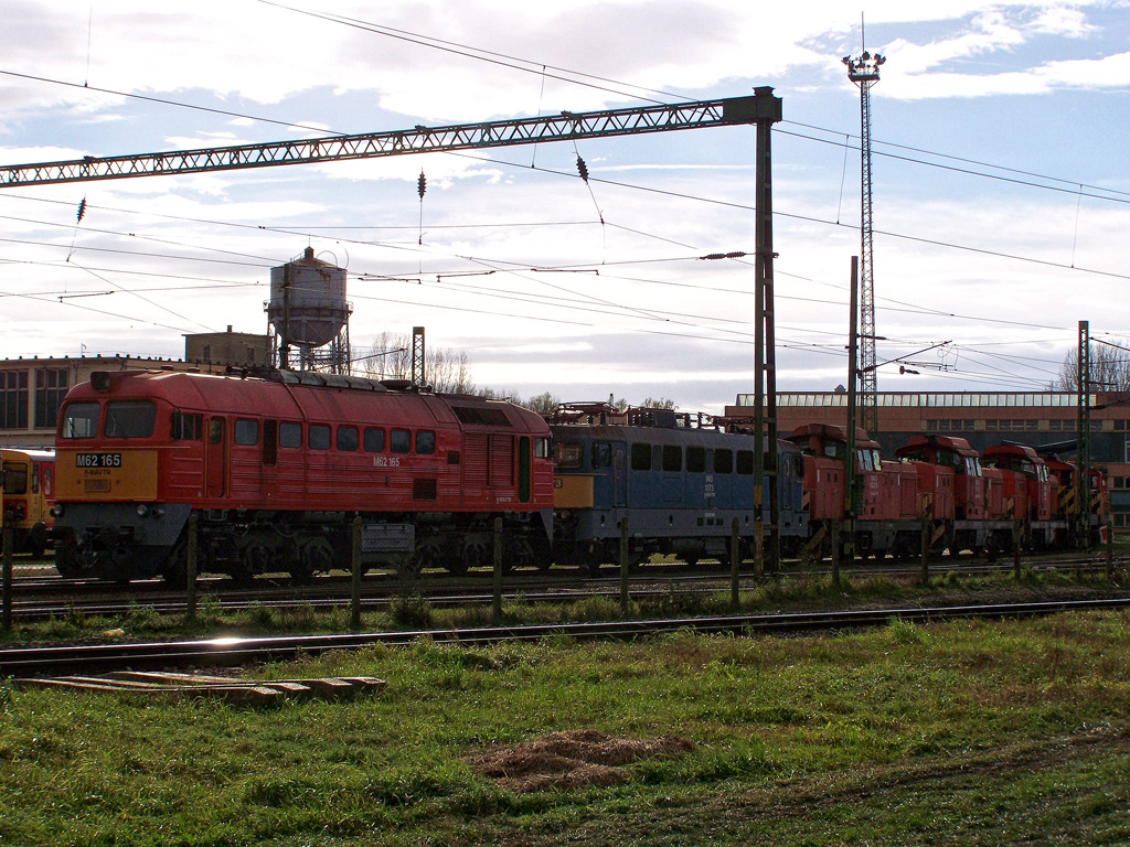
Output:
[[157,451],[60,449],[55,453],[55,499],[155,500]]

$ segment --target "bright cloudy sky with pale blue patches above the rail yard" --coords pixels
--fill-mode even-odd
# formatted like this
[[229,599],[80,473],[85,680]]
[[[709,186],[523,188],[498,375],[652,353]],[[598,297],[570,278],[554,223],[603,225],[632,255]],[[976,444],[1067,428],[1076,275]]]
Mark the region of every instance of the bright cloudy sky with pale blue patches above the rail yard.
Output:
[[[1127,0],[3,8],[9,165],[772,86],[782,391],[846,381],[860,126],[841,58],[864,49],[862,17],[887,58],[871,90],[879,388],[1036,391],[1080,320],[1130,338]],[[184,333],[266,332],[270,268],[311,246],[348,269],[360,352],[424,325],[479,385],[721,411],[753,386],[754,269],[699,256],[753,252],[754,142],[737,126],[3,189],[0,356],[175,358]]]

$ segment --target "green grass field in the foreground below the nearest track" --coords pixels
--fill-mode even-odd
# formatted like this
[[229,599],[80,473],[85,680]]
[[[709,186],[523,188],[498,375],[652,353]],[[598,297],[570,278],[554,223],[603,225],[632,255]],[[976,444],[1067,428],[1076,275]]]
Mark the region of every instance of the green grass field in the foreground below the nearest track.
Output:
[[[1128,622],[425,640],[255,669],[388,681],[271,708],[9,684],[0,844],[1130,844]],[[547,736],[678,744],[477,767]]]

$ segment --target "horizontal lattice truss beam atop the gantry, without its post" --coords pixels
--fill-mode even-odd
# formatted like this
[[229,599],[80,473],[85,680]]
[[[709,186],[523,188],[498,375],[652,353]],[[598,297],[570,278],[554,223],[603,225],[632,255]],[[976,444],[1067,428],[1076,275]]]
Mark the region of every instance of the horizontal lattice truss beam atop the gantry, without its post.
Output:
[[94,180],[124,180],[134,176],[240,171],[780,121],[781,98],[773,96],[772,88],[758,88],[756,91],[751,97],[693,101],[605,112],[563,112],[555,116],[453,126],[416,126],[411,130],[366,132],[358,136],[331,136],[137,156],[86,156],[70,161],[10,165],[0,167],[0,189]]

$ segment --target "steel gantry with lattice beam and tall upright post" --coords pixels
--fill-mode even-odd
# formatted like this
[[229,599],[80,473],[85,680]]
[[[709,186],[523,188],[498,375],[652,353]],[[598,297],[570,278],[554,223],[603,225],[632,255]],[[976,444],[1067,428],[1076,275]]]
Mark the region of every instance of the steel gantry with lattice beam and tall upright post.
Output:
[[[773,202],[770,130],[782,119],[781,98],[771,87],[754,89],[753,96],[690,101],[667,105],[615,108],[602,112],[562,112],[559,115],[520,117],[452,126],[416,126],[392,132],[329,136],[295,141],[209,147],[136,156],[85,156],[68,161],[0,166],[0,189],[52,183],[125,180],[141,176],[241,171],[315,161],[341,161],[419,152],[446,152],[585,138],[614,138],[673,130],[754,124],[756,156],[756,315],[755,315],[755,417],[767,439],[764,473],[770,480],[770,567],[779,550],[776,475],[776,356],[773,313]],[[415,349],[415,348],[414,348]],[[423,363],[421,363],[423,370]],[[423,374],[421,374],[423,376]],[[758,461],[755,470],[762,470]],[[757,473],[755,501],[764,514],[762,474]],[[760,553],[758,551],[758,567]]]

